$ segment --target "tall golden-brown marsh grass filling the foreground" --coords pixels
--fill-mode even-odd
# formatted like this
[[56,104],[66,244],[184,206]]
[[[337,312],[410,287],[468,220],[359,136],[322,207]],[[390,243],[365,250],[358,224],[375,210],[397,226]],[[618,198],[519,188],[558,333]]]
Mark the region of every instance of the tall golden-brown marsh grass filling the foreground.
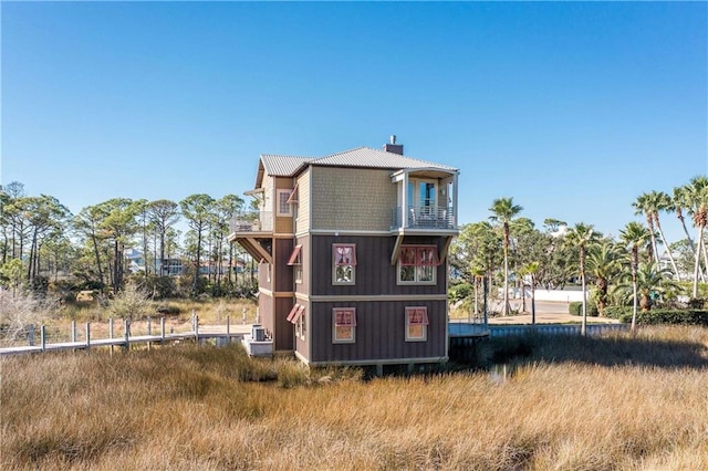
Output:
[[708,329],[538,345],[501,380],[363,381],[236,346],[4,358],[0,468],[708,469]]

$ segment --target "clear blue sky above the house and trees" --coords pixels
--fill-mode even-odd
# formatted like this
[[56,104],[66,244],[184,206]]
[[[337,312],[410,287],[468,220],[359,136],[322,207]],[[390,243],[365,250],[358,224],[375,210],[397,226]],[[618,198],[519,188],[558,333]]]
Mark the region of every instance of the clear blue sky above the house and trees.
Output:
[[[3,185],[72,211],[242,195],[260,154],[460,169],[460,220],[616,234],[708,172],[706,2],[7,2]],[[664,217],[669,239],[680,229]]]

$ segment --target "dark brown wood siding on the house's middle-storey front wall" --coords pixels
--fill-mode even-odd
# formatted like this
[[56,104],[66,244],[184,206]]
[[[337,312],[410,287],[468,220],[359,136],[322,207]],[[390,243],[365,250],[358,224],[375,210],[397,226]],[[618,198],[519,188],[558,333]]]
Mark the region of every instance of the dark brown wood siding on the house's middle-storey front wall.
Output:
[[[332,245],[334,243],[356,244],[356,284],[332,284]],[[397,265],[391,264],[391,254],[396,243],[395,237],[368,236],[312,236],[311,263],[313,295],[375,295],[375,294],[446,294],[446,264],[437,268],[435,285],[397,284]],[[406,237],[405,244],[436,244],[444,247],[440,237]]]

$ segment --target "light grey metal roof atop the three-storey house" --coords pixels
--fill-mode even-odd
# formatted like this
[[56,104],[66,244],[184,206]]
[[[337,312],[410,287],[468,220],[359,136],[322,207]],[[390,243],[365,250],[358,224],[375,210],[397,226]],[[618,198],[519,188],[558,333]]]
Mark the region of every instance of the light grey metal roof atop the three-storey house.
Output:
[[332,154],[325,157],[295,157],[278,156],[271,154],[261,155],[261,163],[268,175],[277,177],[292,177],[306,165],[321,165],[331,167],[361,167],[361,168],[388,168],[399,170],[404,168],[429,168],[445,171],[457,171],[457,168],[434,164],[394,153],[358,147],[343,153]]

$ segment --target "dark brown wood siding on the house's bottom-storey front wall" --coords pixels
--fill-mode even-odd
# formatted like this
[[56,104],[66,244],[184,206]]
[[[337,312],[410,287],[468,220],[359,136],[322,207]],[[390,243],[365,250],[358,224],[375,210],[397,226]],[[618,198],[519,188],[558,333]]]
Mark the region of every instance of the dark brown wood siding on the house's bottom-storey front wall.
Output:
[[[408,306],[426,306],[429,325],[426,342],[406,342]],[[356,342],[332,342],[332,308],[356,308]],[[309,317],[313,363],[392,362],[442,358],[447,355],[446,301],[317,302]],[[302,352],[301,352],[302,353]]]

